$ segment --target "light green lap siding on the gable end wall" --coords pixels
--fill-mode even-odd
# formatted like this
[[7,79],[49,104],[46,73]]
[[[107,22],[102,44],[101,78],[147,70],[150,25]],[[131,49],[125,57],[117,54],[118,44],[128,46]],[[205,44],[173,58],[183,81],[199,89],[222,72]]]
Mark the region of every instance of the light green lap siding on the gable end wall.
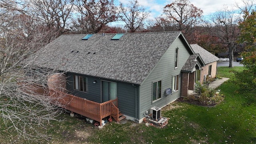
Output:
[[[178,53],[178,68],[174,69],[174,55],[175,49],[179,48]],[[190,56],[188,49],[184,47],[184,43],[180,38],[177,38],[166,53],[162,56],[158,64],[149,74],[149,76],[144,80],[143,84],[140,86],[140,112],[139,119],[144,117],[144,113],[146,110],[150,110],[150,108],[157,106],[163,107],[166,104],[176,100],[181,96],[181,68],[185,64],[186,60]],[[179,74],[179,90],[174,92],[172,95],[166,96],[165,90],[167,88],[172,88],[172,76],[176,76]],[[162,98],[152,103],[152,82],[162,80]]]

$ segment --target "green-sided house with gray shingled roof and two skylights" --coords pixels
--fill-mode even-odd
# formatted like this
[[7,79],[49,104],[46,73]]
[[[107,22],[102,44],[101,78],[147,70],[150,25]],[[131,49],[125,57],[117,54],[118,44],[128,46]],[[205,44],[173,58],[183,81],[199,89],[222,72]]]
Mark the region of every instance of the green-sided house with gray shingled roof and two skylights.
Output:
[[66,72],[69,94],[97,103],[118,98],[118,109],[136,122],[186,96],[213,62],[179,31],[62,35],[38,52],[38,66]]

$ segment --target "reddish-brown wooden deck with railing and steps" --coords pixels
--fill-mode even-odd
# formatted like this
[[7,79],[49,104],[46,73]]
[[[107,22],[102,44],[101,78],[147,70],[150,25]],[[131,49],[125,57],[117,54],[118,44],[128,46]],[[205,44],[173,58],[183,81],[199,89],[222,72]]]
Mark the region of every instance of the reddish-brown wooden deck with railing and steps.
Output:
[[86,116],[100,122],[102,126],[102,119],[110,116],[114,118],[116,122],[120,122],[120,112],[118,109],[118,99],[109,100],[103,103],[93,102],[91,100],[86,100],[78,96],[71,94],[66,94],[64,92],[56,92],[54,90],[49,90],[50,96],[58,98],[58,102],[62,104],[62,108]]

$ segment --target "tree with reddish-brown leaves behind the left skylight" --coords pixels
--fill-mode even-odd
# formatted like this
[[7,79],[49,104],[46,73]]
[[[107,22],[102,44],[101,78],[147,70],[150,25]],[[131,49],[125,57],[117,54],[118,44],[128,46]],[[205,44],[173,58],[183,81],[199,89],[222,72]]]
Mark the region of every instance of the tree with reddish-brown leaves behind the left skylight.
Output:
[[78,13],[73,20],[73,31],[98,33],[104,26],[117,20],[114,0],[74,0]]

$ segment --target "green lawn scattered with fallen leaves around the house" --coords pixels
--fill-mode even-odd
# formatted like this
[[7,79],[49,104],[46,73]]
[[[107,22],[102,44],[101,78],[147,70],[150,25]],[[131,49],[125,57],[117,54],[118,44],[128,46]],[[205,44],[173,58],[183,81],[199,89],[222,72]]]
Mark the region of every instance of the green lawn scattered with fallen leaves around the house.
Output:
[[[218,75],[232,77],[230,70],[243,67],[219,67]],[[220,86],[224,102],[214,107],[173,102],[162,109],[162,116],[170,118],[165,128],[146,127],[128,121],[125,124],[107,123],[95,128],[85,118],[60,115],[64,122],[51,122],[45,133],[52,138],[38,143],[47,144],[247,144],[256,143],[255,104],[246,105],[246,98],[236,92],[237,86],[225,82]],[[28,143],[15,132],[5,130],[0,120],[0,143]],[[40,128],[38,128],[40,130]],[[36,142],[32,142],[36,143]]]

